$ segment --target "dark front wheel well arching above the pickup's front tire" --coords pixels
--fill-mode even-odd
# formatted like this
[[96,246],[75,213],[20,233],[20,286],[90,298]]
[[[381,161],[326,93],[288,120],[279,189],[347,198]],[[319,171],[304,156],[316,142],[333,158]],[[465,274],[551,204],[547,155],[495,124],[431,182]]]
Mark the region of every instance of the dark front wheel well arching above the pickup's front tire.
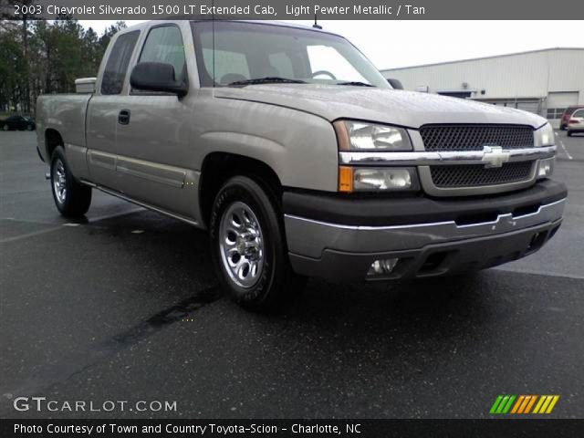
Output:
[[251,178],[262,186],[277,203],[282,203],[282,183],[276,172],[265,162],[227,152],[213,152],[207,155],[201,168],[199,200],[203,222],[209,225],[215,196],[229,178],[237,175]]

